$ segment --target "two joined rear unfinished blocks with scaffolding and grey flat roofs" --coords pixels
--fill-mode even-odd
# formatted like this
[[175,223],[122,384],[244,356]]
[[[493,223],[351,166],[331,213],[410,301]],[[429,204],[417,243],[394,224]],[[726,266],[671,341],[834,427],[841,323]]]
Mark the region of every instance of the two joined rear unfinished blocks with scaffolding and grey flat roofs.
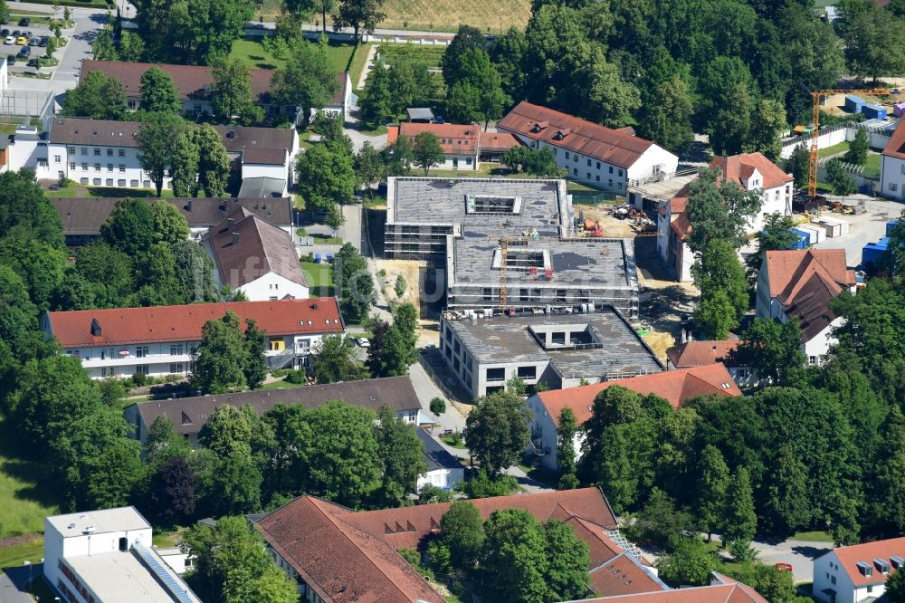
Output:
[[386,257],[444,267],[449,310],[637,316],[633,240],[577,238],[565,180],[390,177],[386,198]]

